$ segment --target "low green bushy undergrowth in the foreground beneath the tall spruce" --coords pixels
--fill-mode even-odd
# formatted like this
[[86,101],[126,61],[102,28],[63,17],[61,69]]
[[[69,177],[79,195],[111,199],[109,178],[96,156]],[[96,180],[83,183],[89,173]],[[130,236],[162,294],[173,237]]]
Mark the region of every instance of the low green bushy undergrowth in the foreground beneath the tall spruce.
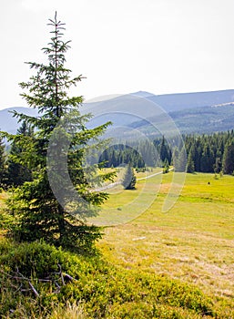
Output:
[[[8,241],[0,242],[0,255],[2,318],[216,316],[212,302],[197,288],[150,273],[117,269],[100,257],[78,256],[45,242]],[[68,274],[74,280],[59,282],[60,269],[65,278]],[[56,281],[40,281],[52,275]]]

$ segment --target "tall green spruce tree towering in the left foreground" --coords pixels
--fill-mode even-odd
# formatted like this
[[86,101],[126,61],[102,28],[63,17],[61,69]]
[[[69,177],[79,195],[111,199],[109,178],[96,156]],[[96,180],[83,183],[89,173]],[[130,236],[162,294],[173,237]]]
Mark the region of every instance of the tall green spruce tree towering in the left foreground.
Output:
[[[91,141],[97,140],[93,149],[98,148],[98,137],[104,133],[109,123],[95,129],[86,129],[86,122],[90,116],[81,115],[79,112],[83,98],[68,95],[69,88],[76,86],[82,76],[72,77],[71,70],[65,67],[66,51],[70,47],[70,41],[63,40],[65,24],[58,21],[55,16],[53,20],[49,20],[48,26],[52,27],[51,41],[42,49],[47,57],[47,64],[28,62],[35,74],[28,82],[20,83],[20,87],[24,90],[22,97],[29,107],[38,109],[39,116],[34,118],[15,112],[15,117],[33,127],[35,134],[33,136],[5,134],[18,148],[25,149],[20,164],[32,171],[33,178],[32,181],[26,181],[18,187],[8,201],[9,210],[15,214],[15,226],[12,231],[20,241],[44,239],[46,242],[66,248],[90,250],[94,242],[101,237],[101,230],[95,225],[86,224],[86,212],[96,213],[94,208],[107,200],[107,193],[91,190],[87,182],[91,170],[88,172],[84,170],[83,160]],[[72,215],[60,201],[57,201],[51,190],[46,170],[50,139],[54,136],[56,143],[57,125],[63,119],[67,122],[67,118],[71,131],[69,139],[72,137],[66,154],[67,170],[74,189],[84,200],[76,207],[76,215]],[[67,134],[65,132],[65,138]],[[57,145],[60,143],[61,149],[63,136],[58,135],[58,139]],[[56,148],[54,151],[56,152]],[[62,189],[63,176],[59,175],[60,163],[52,160],[51,165],[52,170],[54,165],[57,174],[55,176],[57,185],[61,185],[63,192],[68,192],[66,188]],[[96,168],[93,167],[93,170]],[[111,174],[103,174],[102,178],[111,179]]]

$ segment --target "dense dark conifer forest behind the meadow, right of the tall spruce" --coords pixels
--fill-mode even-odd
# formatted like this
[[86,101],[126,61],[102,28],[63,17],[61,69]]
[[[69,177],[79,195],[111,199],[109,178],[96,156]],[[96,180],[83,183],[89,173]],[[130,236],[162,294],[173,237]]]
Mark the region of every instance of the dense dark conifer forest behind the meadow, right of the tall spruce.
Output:
[[[183,135],[187,151],[188,172],[223,172],[232,174],[234,171],[234,132],[213,133],[210,135]],[[130,143],[127,143],[130,144]],[[173,165],[176,160],[176,148],[170,148],[167,140],[158,139],[131,142],[128,145],[115,145],[106,149],[100,161],[106,161],[106,167],[117,167],[131,162],[136,169],[147,166]]]

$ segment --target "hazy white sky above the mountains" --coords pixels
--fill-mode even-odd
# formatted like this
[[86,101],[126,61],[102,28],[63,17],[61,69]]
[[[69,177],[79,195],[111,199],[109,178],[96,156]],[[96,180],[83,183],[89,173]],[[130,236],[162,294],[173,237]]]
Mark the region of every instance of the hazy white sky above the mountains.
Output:
[[86,99],[234,88],[233,0],[0,0],[0,108],[26,106],[18,82],[42,62],[57,11],[67,67]]

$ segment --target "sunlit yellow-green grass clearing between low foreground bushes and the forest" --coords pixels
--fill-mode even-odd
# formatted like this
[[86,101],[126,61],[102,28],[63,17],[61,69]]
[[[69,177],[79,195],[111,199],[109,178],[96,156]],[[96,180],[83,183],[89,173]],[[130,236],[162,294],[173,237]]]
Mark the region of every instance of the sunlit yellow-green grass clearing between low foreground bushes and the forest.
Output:
[[[166,274],[198,285],[210,295],[234,298],[234,177],[188,174],[181,195],[162,213],[172,173],[145,182],[158,191],[152,205],[134,221],[110,227],[99,247],[110,262],[127,269]],[[111,205],[127,205],[142,190],[110,194]],[[149,196],[144,193],[144,198]],[[232,304],[234,305],[234,304]]]

